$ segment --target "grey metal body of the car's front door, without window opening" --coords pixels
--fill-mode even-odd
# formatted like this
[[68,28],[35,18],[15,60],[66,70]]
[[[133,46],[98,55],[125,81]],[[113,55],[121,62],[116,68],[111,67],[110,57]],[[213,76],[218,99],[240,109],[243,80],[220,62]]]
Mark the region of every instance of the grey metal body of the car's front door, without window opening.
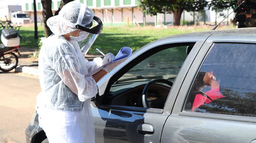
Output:
[[[144,55],[144,53],[147,50],[150,50],[152,48],[157,48],[157,46],[167,45],[167,44],[175,45],[177,43],[184,43],[184,45],[186,45],[186,43],[194,42],[196,43],[195,47],[198,47],[198,48],[195,48],[196,50],[194,50],[194,52],[197,52],[209,35],[210,34],[194,36],[194,38],[189,38],[187,39],[187,41],[184,41],[184,40],[178,41],[177,36],[166,38],[164,39],[164,41],[161,41],[161,40],[159,41],[161,44],[157,43],[155,45],[148,45],[148,47],[150,48],[145,46],[144,48],[139,50],[139,52],[135,52],[131,57],[129,57],[130,59],[128,58],[127,61],[131,62],[131,60],[135,59],[138,56],[145,57],[147,55]],[[187,37],[189,36],[188,35],[184,36],[184,39],[186,39]],[[200,39],[200,40],[196,40],[196,39]],[[195,55],[191,56],[189,59],[193,59]],[[186,60],[186,62],[183,64],[180,70],[183,72],[182,74],[179,74],[179,75],[185,76],[187,70],[190,67],[190,64],[191,64],[191,61]],[[111,75],[111,77],[115,76],[115,74],[118,74],[118,71],[122,70],[122,68],[125,67],[125,65],[126,64],[123,63],[122,65],[119,65],[119,67],[115,68],[114,69],[115,71],[110,72],[109,74]],[[174,82],[174,85],[175,85],[175,82]],[[150,109],[145,110],[145,112],[137,112],[137,111],[133,111],[131,109],[132,107],[130,109],[129,107],[127,107],[127,110],[123,110],[121,108],[115,108],[115,109],[110,109],[110,108],[111,107],[101,108],[101,106],[99,106],[99,108],[92,108],[93,116],[95,119],[96,142],[120,142],[120,140],[122,140],[122,142],[138,142],[138,143],[160,142],[161,131],[163,129],[164,123],[168,115],[170,114],[163,114],[162,113],[163,111],[159,113],[155,113],[154,111],[152,112]],[[98,117],[95,114],[98,114]],[[157,118],[154,118],[155,116],[157,116]],[[154,128],[154,133],[152,135],[142,135],[141,133],[139,133],[137,131],[137,128],[141,124],[152,125],[152,127]]]

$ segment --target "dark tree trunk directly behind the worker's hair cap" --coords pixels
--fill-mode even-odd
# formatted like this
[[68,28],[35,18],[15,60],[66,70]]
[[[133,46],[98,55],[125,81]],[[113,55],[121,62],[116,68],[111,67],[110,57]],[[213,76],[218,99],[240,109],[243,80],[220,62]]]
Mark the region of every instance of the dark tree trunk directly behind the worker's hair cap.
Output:
[[45,36],[49,37],[52,35],[52,31],[47,26],[46,21],[53,16],[52,14],[52,0],[41,0],[43,6],[43,24],[45,29]]

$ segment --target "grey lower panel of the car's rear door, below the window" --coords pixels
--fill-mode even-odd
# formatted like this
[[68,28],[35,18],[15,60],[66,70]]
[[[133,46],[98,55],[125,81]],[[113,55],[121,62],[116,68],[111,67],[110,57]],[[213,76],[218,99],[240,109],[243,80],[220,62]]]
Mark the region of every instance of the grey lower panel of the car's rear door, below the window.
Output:
[[250,143],[256,139],[255,130],[251,122],[171,115],[161,143]]

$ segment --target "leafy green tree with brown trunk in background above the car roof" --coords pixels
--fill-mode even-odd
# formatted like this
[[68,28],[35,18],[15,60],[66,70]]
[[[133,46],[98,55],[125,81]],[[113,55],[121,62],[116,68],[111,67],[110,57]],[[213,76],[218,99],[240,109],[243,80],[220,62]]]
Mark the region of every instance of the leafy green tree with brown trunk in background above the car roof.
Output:
[[174,25],[180,25],[181,14],[186,11],[198,11],[207,6],[206,0],[141,0],[143,12],[150,15],[173,13]]

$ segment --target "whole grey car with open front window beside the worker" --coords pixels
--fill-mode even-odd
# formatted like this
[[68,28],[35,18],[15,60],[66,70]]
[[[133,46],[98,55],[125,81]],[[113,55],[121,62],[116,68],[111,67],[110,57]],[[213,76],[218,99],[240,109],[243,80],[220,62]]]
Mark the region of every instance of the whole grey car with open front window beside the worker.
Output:
[[[97,84],[96,143],[256,143],[256,28],[159,39]],[[27,143],[47,142],[37,118]]]

